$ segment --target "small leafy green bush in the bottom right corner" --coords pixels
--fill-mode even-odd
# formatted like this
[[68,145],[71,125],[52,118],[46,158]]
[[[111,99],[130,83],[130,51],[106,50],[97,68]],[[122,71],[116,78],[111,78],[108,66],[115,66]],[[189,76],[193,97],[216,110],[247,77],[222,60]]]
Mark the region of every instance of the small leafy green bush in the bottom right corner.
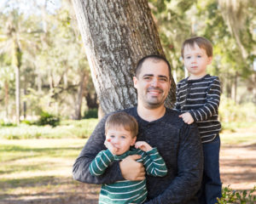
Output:
[[218,198],[219,204],[239,203],[239,204],[253,204],[256,203],[256,195],[253,192],[256,190],[232,190],[230,186],[222,190],[222,198]]

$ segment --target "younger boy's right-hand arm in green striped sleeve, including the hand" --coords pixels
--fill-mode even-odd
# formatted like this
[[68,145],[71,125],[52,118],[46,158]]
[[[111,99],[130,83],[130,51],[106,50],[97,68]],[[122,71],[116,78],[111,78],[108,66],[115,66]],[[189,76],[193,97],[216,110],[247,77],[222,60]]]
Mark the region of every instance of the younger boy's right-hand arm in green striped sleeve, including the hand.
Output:
[[135,147],[148,150],[143,152],[141,159],[148,175],[163,177],[167,174],[166,163],[156,148],[143,141],[137,142]]

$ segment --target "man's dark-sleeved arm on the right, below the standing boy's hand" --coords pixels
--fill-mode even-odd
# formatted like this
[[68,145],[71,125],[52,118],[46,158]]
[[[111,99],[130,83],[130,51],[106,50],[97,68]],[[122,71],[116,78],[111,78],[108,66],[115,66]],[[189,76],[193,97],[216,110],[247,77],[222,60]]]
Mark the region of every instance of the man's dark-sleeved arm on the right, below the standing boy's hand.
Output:
[[144,204],[186,203],[200,189],[203,173],[201,139],[195,124],[183,125],[177,154],[177,177],[166,190]]

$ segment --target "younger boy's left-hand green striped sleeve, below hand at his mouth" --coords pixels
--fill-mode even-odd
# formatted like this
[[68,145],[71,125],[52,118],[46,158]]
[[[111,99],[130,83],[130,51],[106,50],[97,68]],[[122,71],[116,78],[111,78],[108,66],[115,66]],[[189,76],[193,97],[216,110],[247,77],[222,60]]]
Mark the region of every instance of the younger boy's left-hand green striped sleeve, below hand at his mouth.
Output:
[[91,161],[89,171],[93,176],[102,175],[108,165],[113,161],[113,154],[110,150],[102,150],[97,154],[96,158]]

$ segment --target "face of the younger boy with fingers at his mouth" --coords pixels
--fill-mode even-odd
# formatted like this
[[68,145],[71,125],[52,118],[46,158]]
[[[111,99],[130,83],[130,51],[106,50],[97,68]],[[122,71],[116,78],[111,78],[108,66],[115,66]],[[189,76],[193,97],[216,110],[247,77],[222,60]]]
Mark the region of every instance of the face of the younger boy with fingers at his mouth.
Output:
[[109,127],[106,139],[117,148],[116,155],[122,155],[134,145],[137,137],[132,137],[130,131],[124,127]]

